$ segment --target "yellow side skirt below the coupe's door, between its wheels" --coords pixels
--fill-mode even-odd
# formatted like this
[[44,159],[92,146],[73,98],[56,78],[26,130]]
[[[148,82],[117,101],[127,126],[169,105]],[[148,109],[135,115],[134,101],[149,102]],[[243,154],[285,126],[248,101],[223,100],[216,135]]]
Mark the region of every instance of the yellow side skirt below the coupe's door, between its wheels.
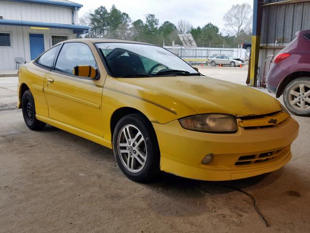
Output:
[[59,129],[62,129],[66,132],[69,132],[69,133],[73,133],[73,134],[76,134],[80,137],[83,137],[83,138],[86,138],[88,140],[91,140],[95,143],[98,143],[104,147],[108,147],[109,149],[112,149],[112,143],[105,140],[104,138],[96,135],[96,134],[93,134],[93,133],[89,133],[85,130],[81,130],[77,127],[74,127],[72,125],[68,125],[66,123],[63,123],[61,121],[58,121],[58,120],[54,120],[54,119],[50,119],[50,118],[47,118],[47,117],[44,117],[44,116],[39,116],[39,115],[35,115],[35,117],[38,119],[38,120],[41,120],[49,125],[52,125],[52,126],[55,126]]

